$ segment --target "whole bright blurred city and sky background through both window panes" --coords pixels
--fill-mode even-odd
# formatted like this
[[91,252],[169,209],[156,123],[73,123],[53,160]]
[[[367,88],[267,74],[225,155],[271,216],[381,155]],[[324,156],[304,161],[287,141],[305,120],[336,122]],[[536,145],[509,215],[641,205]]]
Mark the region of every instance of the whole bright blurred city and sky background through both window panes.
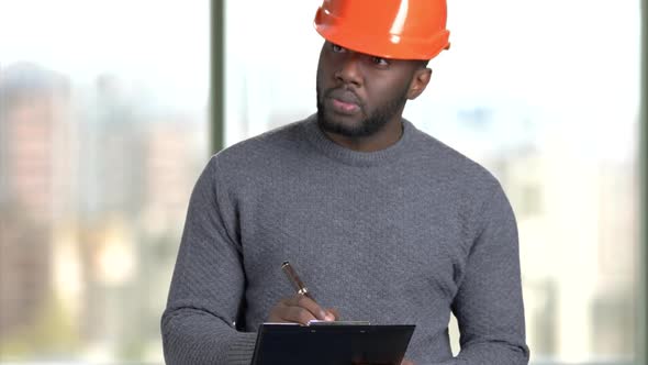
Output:
[[[225,145],[315,111],[320,3],[226,2]],[[536,364],[636,354],[639,7],[448,0],[453,46],[405,111],[502,181]],[[0,364],[163,362],[211,153],[209,14],[209,0],[0,0]]]

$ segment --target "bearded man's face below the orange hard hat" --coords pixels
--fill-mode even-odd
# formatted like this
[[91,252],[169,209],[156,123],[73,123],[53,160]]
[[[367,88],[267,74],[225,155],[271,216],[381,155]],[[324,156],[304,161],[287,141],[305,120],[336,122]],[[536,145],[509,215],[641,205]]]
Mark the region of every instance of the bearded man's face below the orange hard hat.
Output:
[[[325,42],[317,66],[317,122],[346,137],[376,134],[400,123],[421,62],[375,57]],[[425,82],[426,84],[426,82]],[[423,86],[424,88],[425,86]]]

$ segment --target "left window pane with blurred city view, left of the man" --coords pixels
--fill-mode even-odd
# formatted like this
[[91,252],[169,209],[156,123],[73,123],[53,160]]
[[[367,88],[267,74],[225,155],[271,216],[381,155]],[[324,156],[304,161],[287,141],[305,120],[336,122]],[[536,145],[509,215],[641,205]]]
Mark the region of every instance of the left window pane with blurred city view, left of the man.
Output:
[[209,0],[0,2],[0,363],[163,363]]

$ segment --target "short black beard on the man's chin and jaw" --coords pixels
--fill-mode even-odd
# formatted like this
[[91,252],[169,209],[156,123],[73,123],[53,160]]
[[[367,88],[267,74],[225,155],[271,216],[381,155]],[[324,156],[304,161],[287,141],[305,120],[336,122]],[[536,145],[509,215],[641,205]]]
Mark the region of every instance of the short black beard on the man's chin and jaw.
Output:
[[364,119],[359,123],[350,125],[335,120],[335,115],[332,115],[324,104],[324,100],[335,90],[335,88],[328,89],[322,95],[317,85],[317,124],[325,132],[346,137],[367,137],[376,134],[389,123],[407,101],[407,89],[404,89],[369,114],[365,104],[361,103],[359,107]]

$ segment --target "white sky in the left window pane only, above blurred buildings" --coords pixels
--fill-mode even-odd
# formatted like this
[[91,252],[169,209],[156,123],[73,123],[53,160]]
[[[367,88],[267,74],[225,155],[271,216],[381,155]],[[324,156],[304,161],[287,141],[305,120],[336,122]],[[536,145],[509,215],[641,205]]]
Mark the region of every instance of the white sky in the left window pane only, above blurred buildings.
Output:
[[36,60],[76,82],[111,73],[175,90],[169,103],[206,104],[209,46],[195,44],[209,44],[210,8],[191,1],[0,0],[0,65]]

